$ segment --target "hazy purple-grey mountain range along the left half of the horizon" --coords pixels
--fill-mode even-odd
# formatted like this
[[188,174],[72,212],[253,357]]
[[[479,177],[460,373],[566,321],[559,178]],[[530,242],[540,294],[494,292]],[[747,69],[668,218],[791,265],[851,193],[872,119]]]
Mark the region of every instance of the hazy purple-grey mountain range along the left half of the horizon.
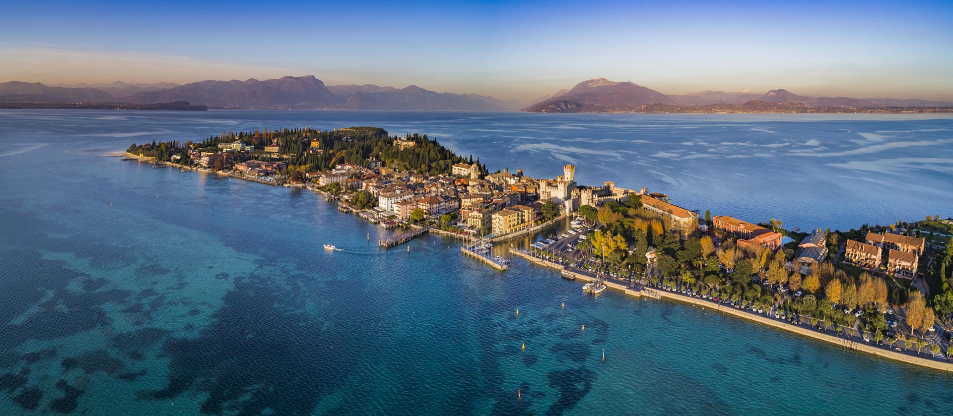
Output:
[[395,110],[502,110],[518,109],[517,101],[477,94],[435,92],[410,86],[404,89],[375,85],[325,86],[308,76],[286,76],[259,81],[200,81],[175,84],[112,84],[48,87],[17,81],[0,83],[0,102],[91,102],[147,105],[187,101],[227,109],[395,109]]

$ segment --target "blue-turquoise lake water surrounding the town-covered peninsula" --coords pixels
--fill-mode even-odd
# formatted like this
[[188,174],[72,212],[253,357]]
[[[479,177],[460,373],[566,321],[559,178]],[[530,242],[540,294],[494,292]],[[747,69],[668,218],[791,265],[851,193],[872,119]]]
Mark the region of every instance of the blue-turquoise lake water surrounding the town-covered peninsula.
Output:
[[696,307],[582,296],[437,236],[381,251],[366,237],[380,228],[313,193],[103,156],[352,125],[426,132],[529,175],[573,162],[582,183],[801,227],[946,216],[953,201],[950,118],[4,110],[0,414],[949,411],[944,373]]

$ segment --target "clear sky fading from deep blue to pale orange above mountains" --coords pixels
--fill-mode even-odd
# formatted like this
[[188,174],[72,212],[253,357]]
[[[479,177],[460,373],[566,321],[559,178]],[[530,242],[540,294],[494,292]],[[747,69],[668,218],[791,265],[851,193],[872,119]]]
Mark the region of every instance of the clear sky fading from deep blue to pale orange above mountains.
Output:
[[953,0],[3,3],[0,82],[313,74],[529,101],[605,77],[953,101]]

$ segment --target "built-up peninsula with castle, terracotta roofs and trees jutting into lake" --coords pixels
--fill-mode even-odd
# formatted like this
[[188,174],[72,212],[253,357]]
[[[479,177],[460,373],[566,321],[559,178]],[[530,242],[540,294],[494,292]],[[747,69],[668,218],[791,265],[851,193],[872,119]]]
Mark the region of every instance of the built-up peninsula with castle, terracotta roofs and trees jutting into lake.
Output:
[[313,189],[342,211],[402,229],[382,239],[383,248],[436,232],[466,240],[461,251],[497,269],[509,261],[490,254],[494,242],[576,217],[567,232],[509,252],[590,281],[590,293],[614,287],[676,299],[953,371],[953,220],[939,215],[801,232],[776,219],[702,214],[647,188],[582,186],[573,165],[554,179],[490,172],[426,134],[369,127],[223,132],[201,142],[133,144],[116,155]]

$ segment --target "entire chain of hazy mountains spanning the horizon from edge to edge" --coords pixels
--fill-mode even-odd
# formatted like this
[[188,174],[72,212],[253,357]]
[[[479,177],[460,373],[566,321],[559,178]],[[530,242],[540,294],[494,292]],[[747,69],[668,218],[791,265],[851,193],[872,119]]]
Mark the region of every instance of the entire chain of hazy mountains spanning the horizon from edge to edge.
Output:
[[[373,84],[325,86],[314,75],[259,81],[200,81],[172,83],[78,84],[46,86],[11,81],[0,83],[0,103],[93,103],[151,105],[188,102],[221,109],[375,109],[375,110],[506,110],[517,101],[477,94],[436,92],[410,86],[403,89]],[[748,103],[751,103],[750,105]],[[707,107],[706,107],[707,106]],[[730,106],[736,106],[733,109]],[[812,97],[786,89],[764,94],[750,90],[701,91],[668,95],[631,82],[593,78],[572,89],[540,97],[522,109],[532,112],[786,111],[843,112],[845,109],[907,109],[950,107],[953,103],[917,99]],[[21,106],[22,107],[22,106]],[[60,106],[62,107],[62,106]],[[701,109],[696,109],[700,107]]]

